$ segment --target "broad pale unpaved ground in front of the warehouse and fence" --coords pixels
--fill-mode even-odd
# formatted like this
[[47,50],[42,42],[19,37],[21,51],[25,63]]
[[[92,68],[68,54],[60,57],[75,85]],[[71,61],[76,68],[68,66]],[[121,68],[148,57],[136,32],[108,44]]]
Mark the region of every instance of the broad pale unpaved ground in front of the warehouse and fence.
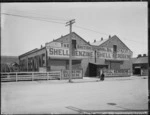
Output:
[[[148,110],[148,77],[1,83],[3,114],[79,114]],[[97,82],[98,81],[98,82]]]

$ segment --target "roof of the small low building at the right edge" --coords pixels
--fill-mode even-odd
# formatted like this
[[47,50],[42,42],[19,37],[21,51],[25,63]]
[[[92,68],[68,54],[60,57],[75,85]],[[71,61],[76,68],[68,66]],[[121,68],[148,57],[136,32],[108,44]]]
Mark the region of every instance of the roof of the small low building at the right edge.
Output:
[[133,64],[148,63],[148,56],[146,56],[146,57],[132,58],[132,63]]

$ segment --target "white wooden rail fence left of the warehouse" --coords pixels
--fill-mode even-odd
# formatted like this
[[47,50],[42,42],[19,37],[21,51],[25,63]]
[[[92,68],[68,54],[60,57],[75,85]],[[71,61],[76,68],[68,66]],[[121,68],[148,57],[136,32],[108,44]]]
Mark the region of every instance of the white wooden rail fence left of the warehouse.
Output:
[[61,79],[61,71],[50,72],[2,72],[2,81],[24,81],[24,80],[52,80]]

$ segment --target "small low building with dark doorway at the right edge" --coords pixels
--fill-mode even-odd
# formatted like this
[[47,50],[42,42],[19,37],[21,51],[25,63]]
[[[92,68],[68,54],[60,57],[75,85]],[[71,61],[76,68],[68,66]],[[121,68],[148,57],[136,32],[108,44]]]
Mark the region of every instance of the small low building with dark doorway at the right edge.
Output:
[[138,56],[132,59],[133,75],[148,75],[148,56]]

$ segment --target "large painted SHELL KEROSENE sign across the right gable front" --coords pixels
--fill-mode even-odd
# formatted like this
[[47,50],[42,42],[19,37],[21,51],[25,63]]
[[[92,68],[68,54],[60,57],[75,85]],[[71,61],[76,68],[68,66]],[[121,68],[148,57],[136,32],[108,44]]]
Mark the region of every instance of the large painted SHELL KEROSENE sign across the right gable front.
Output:
[[132,57],[132,52],[125,49],[118,49],[114,53],[113,48],[101,47],[97,49],[96,57],[100,59],[129,60]]

